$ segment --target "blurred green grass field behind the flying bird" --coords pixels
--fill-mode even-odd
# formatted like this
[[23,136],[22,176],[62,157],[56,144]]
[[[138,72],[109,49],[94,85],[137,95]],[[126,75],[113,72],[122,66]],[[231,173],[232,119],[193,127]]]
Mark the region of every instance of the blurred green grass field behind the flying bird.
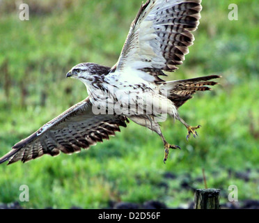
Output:
[[[29,21],[19,20],[22,1],[0,1],[0,155],[71,105],[86,98],[84,84],[65,79],[83,61],[113,66],[140,0],[24,1]],[[166,139],[181,146],[166,165],[161,139],[130,123],[116,137],[88,151],[44,156],[0,166],[0,203],[24,208],[104,208],[111,202],[157,200],[177,207],[192,201],[195,188],[235,184],[239,200],[259,199],[259,4],[235,0],[238,21],[228,20],[229,1],[203,0],[201,24],[186,61],[171,79],[220,74],[214,91],[195,95],[180,108],[198,139],[169,119]]]

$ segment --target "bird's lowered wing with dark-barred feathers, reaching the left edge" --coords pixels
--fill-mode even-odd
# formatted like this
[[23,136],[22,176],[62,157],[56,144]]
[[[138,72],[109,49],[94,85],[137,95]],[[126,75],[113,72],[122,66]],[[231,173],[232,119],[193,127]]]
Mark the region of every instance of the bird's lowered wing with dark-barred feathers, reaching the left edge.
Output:
[[44,154],[79,152],[97,141],[109,139],[109,135],[120,131],[120,125],[127,126],[125,122],[125,116],[93,114],[92,104],[86,98],[15,144],[13,150],[0,158],[0,163],[26,162]]

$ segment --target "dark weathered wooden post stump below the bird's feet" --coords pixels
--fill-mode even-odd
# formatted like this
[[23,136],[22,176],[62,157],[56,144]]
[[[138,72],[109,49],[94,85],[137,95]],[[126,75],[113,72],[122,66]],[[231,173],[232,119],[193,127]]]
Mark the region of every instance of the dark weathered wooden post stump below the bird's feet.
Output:
[[219,189],[197,189],[194,194],[194,209],[220,209]]

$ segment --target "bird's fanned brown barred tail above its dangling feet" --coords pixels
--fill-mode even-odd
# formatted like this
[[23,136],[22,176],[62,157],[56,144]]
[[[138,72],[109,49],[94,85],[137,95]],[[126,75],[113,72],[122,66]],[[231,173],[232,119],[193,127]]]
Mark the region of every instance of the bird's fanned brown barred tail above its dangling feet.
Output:
[[187,100],[192,98],[196,91],[211,91],[208,86],[214,86],[217,82],[209,81],[210,79],[220,78],[219,75],[210,75],[205,77],[196,77],[192,79],[181,79],[172,82],[164,82],[159,86],[160,90],[167,92],[168,99],[176,107],[182,106]]

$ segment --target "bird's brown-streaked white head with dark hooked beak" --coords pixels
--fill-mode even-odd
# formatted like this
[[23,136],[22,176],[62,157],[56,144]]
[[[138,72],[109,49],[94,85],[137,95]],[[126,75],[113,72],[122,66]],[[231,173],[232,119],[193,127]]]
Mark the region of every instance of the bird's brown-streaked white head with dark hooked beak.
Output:
[[79,63],[67,73],[66,77],[74,77],[84,84],[89,84],[95,79],[107,75],[110,68],[100,66],[96,63]]

